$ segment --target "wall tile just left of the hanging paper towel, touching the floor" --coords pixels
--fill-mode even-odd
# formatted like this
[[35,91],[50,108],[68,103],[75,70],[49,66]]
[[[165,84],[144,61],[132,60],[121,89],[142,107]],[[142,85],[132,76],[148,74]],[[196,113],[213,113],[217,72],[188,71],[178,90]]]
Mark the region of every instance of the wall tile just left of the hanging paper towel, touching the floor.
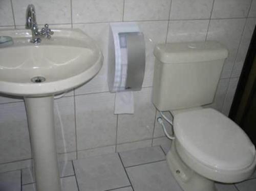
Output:
[[77,149],[91,149],[116,142],[115,94],[76,96]]

